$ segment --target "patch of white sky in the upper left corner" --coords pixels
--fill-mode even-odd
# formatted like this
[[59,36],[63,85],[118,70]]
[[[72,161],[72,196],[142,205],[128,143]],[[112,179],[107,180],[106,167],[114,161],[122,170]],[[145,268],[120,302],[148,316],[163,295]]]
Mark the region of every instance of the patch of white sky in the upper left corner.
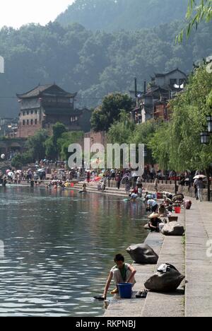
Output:
[[74,0],[0,0],[0,28],[20,28],[27,23],[47,24]]

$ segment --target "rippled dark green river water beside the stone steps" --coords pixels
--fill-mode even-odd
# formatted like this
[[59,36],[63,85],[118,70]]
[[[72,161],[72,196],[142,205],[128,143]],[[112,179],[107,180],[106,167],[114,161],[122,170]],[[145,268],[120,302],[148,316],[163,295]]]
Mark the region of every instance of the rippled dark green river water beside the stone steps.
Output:
[[102,315],[93,295],[102,294],[115,254],[131,262],[125,250],[143,243],[145,221],[141,202],[0,187],[0,316]]

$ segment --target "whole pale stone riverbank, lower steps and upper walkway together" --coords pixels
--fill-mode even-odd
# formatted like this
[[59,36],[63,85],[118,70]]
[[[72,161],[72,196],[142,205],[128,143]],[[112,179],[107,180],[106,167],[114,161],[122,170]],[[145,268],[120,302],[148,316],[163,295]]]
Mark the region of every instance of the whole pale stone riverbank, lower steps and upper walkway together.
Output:
[[158,265],[135,265],[138,272],[134,296],[136,291],[143,289],[144,281],[165,262],[185,274],[185,281],[172,294],[148,292],[146,299],[133,297],[131,300],[114,297],[105,317],[212,316],[212,203],[199,203],[195,199],[192,202],[192,209],[183,210],[178,219],[185,226],[186,236],[148,235],[146,243],[159,253]]

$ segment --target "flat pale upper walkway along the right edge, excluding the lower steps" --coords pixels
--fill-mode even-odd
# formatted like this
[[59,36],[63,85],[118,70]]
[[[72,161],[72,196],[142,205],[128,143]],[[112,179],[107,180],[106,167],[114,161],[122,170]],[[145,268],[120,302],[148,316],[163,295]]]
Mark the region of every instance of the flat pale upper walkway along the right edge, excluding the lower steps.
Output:
[[185,262],[185,316],[212,317],[212,202],[193,200],[186,211]]

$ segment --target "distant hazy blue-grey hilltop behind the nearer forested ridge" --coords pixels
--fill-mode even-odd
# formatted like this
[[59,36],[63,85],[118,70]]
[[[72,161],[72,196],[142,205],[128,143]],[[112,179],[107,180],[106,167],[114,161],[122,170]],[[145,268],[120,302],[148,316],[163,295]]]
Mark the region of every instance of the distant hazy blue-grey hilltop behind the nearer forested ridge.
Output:
[[90,30],[151,28],[185,17],[187,0],[76,0],[61,13],[61,25],[80,23]]

